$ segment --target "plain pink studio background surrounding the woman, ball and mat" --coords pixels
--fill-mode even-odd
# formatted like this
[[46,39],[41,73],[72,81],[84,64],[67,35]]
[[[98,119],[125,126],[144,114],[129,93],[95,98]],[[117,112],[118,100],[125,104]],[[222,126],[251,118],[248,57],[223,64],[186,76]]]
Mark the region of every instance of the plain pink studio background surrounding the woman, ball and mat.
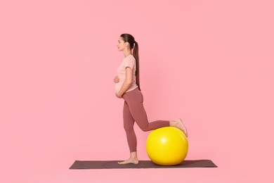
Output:
[[[273,1],[1,1],[0,182],[273,182]],[[149,120],[183,118],[218,168],[69,170],[123,160],[119,34],[140,45]],[[147,160],[149,132],[136,127]],[[272,179],[272,180],[271,180]]]

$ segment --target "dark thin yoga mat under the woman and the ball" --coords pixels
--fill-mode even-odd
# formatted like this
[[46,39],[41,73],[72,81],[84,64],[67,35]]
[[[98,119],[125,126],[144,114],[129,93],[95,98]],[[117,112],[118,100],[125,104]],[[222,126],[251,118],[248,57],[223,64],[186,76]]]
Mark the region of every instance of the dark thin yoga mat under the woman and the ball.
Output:
[[139,160],[139,164],[119,165],[121,160],[75,160],[70,169],[112,169],[112,168],[216,168],[211,160],[183,160],[179,165],[162,166],[151,160]]

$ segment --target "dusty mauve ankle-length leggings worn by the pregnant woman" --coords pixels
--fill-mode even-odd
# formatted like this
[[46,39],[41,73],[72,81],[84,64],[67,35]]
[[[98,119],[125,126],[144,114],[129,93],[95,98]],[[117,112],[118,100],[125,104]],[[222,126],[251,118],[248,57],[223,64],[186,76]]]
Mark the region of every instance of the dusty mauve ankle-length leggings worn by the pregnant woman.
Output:
[[145,113],[145,108],[143,107],[143,94],[136,88],[131,92],[126,92],[123,95],[124,99],[124,130],[126,130],[126,139],[129,144],[129,150],[131,152],[136,152],[137,139],[136,134],[133,129],[134,122],[143,131],[155,130],[159,127],[169,127],[168,120],[157,120],[154,122],[148,122],[147,114]]

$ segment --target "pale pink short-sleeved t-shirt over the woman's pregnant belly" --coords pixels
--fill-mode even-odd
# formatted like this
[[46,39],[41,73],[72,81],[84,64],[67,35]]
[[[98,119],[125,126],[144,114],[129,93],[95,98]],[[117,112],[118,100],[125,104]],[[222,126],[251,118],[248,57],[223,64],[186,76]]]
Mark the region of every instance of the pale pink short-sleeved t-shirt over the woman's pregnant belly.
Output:
[[117,68],[117,73],[118,73],[118,77],[119,77],[119,82],[115,83],[115,91],[116,93],[119,92],[119,90],[121,89],[124,80],[126,80],[126,68],[129,67],[133,70],[132,72],[132,83],[131,83],[131,87],[126,90],[126,92],[130,92],[133,89],[136,89],[138,87],[138,85],[136,84],[136,60],[134,58],[133,55],[129,55],[126,56],[122,63],[119,65],[119,67]]

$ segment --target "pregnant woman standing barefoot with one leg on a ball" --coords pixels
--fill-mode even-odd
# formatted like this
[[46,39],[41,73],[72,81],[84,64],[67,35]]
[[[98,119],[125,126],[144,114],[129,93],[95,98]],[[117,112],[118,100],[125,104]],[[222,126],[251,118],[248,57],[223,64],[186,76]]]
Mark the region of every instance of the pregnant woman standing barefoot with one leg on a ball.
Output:
[[121,34],[117,48],[124,53],[124,59],[117,69],[118,75],[114,78],[115,90],[116,96],[119,99],[124,99],[124,130],[126,131],[130,151],[129,159],[119,162],[119,164],[138,164],[137,139],[133,129],[134,122],[145,132],[171,126],[182,130],[185,136],[188,137],[188,131],[181,118],[148,122],[139,81],[138,43],[131,34]]

